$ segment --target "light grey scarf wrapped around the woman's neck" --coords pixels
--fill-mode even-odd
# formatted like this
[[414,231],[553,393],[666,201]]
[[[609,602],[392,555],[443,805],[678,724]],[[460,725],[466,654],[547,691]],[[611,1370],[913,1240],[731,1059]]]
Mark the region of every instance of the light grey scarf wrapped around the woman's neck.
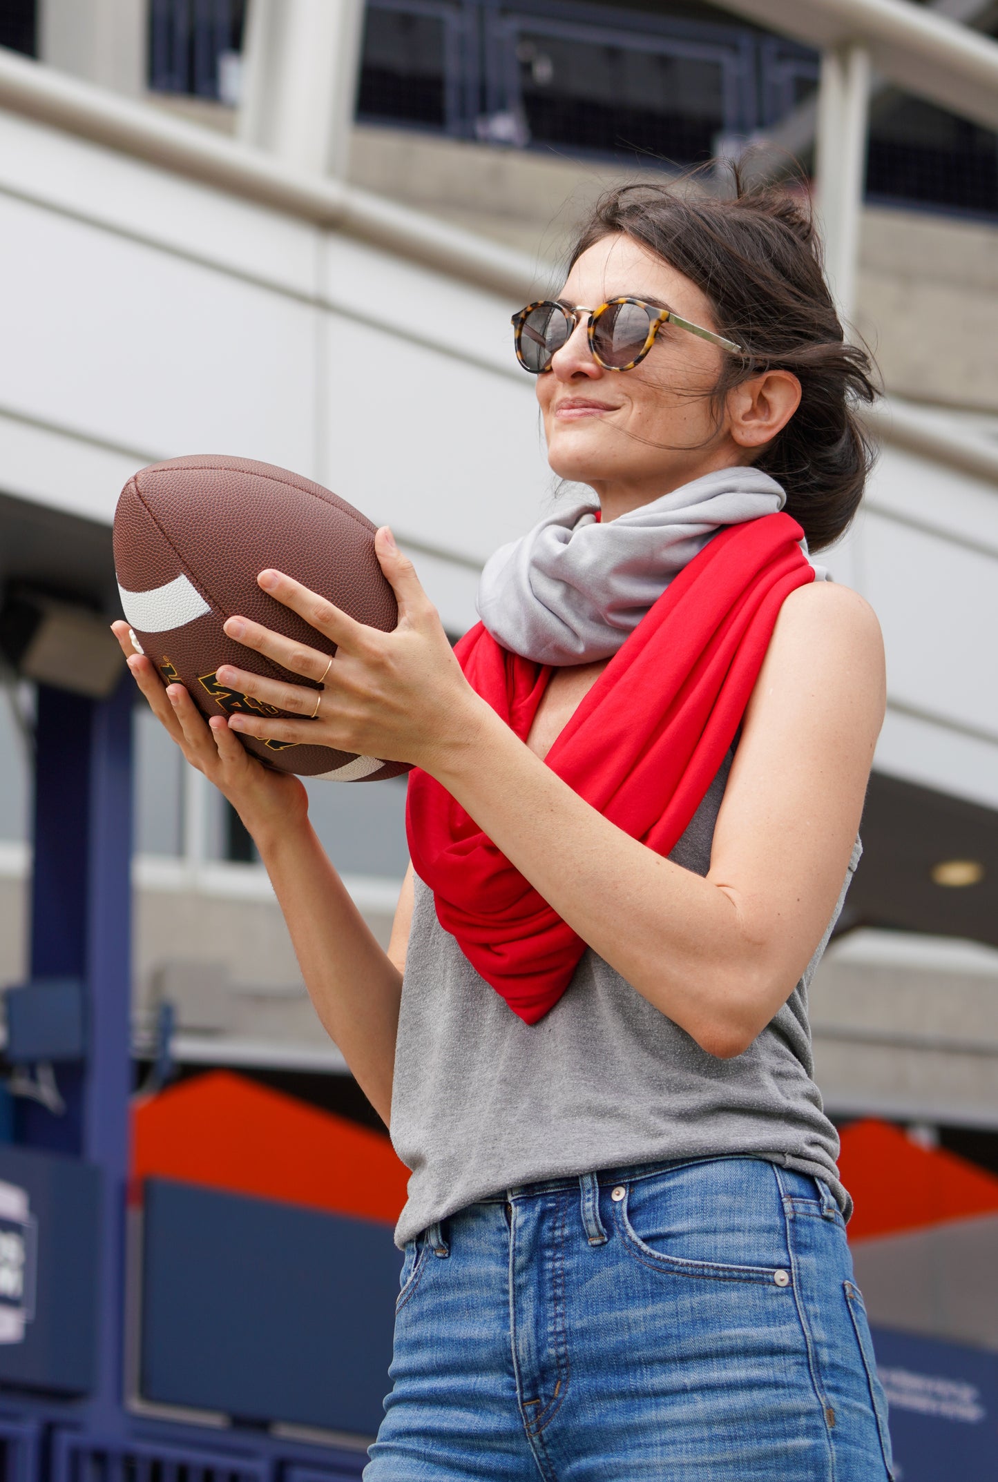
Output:
[[718,468],[607,525],[593,494],[566,499],[485,563],[479,617],[497,643],[538,664],[609,658],[722,526],[784,502],[758,468]]

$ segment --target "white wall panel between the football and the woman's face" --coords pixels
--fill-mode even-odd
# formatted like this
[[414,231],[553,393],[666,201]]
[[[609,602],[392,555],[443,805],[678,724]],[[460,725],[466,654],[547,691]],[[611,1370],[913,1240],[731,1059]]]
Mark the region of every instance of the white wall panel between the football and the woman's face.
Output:
[[550,498],[523,382],[331,316],[323,483],[400,538],[483,560]]

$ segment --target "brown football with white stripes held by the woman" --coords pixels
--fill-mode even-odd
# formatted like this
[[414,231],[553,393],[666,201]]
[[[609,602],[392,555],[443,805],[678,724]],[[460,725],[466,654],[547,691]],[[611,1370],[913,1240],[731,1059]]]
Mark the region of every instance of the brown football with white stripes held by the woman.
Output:
[[[323,654],[337,646],[257,585],[261,571],[286,572],[357,622],[394,628],[394,593],[374,553],[375,526],[346,499],[286,468],[217,455],[171,458],[133,474],[114,514],[114,568],[122,611],[136,646],[166,683],[184,685],[203,716],[280,716],[288,711],[221,685],[222,664],[292,680],[261,654],[222,631],[233,614]],[[301,717],[298,717],[301,719]],[[375,782],[408,772],[403,762],[354,756],[325,745],[242,735],[279,772],[335,782]]]

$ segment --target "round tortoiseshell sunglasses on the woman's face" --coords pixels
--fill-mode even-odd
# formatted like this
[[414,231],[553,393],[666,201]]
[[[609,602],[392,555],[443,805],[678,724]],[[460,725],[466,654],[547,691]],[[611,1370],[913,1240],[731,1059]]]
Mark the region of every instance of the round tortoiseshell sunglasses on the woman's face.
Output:
[[589,314],[586,330],[589,351],[604,370],[633,370],[654,345],[663,325],[678,325],[691,335],[709,339],[712,345],[721,345],[722,350],[737,356],[743,354],[741,345],[736,345],[733,339],[715,335],[712,329],[703,329],[700,325],[691,325],[670,308],[645,304],[641,298],[611,298],[599,308],[581,305],[565,308],[564,304],[544,298],[513,314],[516,359],[523,369],[531,375],[550,370],[553,356],[568,344],[583,314]]

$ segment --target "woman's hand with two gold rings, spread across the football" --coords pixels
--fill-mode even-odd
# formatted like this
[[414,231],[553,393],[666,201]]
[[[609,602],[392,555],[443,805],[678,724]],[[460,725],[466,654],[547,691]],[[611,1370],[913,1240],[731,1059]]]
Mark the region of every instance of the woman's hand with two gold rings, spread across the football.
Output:
[[[335,643],[337,654],[329,664],[329,655],[320,649],[303,648],[248,618],[228,618],[228,637],[292,674],[319,682],[328,668],[317,692],[222,665],[218,670],[222,685],[303,717],[267,720],[234,714],[228,717],[231,731],[261,741],[328,745],[386,762],[412,762],[427,772],[445,765],[455,748],[473,742],[483,701],[464,679],[436,608],[387,526],[375,536],[375,551],[399,603],[399,624],[391,633],[356,622],[283,572],[260,574],[262,590]],[[313,719],[319,694],[319,714]]]

